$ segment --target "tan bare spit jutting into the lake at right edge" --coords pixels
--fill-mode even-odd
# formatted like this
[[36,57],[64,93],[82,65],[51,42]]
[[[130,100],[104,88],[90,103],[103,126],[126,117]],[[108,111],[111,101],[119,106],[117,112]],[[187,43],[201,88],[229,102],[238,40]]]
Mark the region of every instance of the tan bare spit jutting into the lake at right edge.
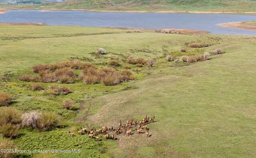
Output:
[[217,25],[220,27],[229,27],[229,28],[235,28],[235,29],[246,29],[246,30],[256,31],[256,25],[252,25],[252,24],[246,23],[244,21],[220,23]]

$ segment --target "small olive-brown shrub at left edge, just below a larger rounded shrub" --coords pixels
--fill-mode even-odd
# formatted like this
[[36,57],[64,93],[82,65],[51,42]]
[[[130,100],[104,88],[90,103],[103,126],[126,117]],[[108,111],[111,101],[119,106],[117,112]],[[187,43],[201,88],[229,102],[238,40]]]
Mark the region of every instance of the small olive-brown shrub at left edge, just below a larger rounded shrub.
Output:
[[18,127],[11,123],[7,123],[6,125],[1,126],[0,133],[3,137],[13,138],[18,135]]

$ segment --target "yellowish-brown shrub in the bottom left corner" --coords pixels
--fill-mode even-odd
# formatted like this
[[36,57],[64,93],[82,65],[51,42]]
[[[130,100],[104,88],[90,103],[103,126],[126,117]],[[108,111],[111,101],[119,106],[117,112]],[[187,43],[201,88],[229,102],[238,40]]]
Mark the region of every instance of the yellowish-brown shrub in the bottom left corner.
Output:
[[[15,150],[16,147],[8,139],[0,140],[0,149],[12,149]],[[12,152],[0,152],[0,158],[13,158],[14,154]]]

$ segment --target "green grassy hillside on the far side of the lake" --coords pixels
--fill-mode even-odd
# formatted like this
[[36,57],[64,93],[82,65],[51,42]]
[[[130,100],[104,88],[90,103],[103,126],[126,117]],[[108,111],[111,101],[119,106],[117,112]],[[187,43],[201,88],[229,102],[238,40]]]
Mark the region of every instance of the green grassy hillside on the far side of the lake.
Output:
[[[67,8],[97,10],[149,10],[149,11],[224,11],[254,12],[255,0],[66,0],[61,3],[20,5],[18,8]],[[17,6],[2,6],[17,8]]]

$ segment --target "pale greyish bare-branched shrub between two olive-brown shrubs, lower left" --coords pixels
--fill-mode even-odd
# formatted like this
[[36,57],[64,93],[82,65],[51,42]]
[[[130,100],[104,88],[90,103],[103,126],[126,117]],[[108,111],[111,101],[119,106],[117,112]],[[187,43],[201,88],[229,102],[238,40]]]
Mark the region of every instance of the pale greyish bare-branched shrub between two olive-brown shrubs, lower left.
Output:
[[36,111],[24,113],[22,115],[22,126],[36,128],[37,121],[42,118],[42,114]]

